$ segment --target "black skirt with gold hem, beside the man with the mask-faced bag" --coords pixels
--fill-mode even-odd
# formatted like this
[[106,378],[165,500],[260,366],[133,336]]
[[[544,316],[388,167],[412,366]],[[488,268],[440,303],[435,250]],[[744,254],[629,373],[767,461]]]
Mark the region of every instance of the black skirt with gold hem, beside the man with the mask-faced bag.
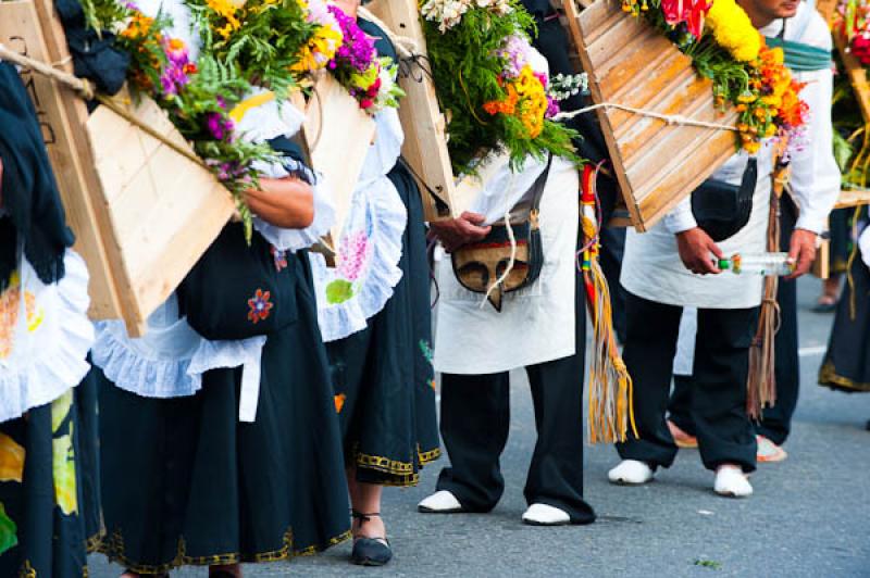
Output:
[[402,278],[368,327],[326,344],[345,458],[357,479],[412,486],[440,456],[432,367],[430,268],[420,192],[408,169],[388,175],[408,210]]

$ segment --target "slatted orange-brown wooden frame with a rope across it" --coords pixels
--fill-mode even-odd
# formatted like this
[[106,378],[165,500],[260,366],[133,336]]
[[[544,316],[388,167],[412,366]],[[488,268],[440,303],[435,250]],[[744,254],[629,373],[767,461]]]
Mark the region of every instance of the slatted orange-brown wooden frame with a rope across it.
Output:
[[[625,14],[619,0],[579,12],[563,5],[595,103],[616,103],[734,126],[717,110],[712,85],[660,32]],[[649,229],[736,151],[732,130],[668,124],[614,108],[598,109],[613,171],[638,231]]]

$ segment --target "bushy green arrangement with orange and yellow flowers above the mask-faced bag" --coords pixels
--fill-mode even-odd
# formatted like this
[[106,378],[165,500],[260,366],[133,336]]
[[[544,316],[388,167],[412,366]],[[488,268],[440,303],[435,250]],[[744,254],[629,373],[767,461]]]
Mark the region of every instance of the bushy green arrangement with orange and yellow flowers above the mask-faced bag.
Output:
[[513,167],[529,155],[575,159],[576,134],[551,118],[581,81],[554,85],[534,68],[534,21],[518,0],[426,0],[421,14],[456,174],[489,151],[507,151]]

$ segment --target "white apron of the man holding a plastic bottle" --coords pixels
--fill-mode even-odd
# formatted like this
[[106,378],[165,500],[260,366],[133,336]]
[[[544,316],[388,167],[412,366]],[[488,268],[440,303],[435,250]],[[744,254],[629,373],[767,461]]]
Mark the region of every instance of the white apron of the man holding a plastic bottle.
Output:
[[[739,185],[747,161],[745,152],[735,154],[713,177]],[[773,150],[770,143],[766,143],[758,153],[758,185],[749,223],[733,237],[718,243],[725,256],[767,251],[772,166]],[[765,278],[731,272],[719,275],[692,273],[680,260],[676,236],[659,222],[648,233],[629,229],[620,281],[631,293],[657,303],[699,309],[748,309],[761,304]]]

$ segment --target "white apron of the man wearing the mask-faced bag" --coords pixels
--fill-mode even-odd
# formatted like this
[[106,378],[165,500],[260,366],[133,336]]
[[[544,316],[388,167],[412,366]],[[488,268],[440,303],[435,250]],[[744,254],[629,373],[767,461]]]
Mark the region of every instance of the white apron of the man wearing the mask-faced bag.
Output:
[[[525,169],[524,173],[535,175],[540,172],[531,164],[526,164]],[[513,188],[527,188],[527,180],[520,175],[508,179]],[[512,198],[515,191],[505,190],[504,194]],[[488,302],[481,307],[484,296],[459,285],[449,257],[438,264],[439,300],[433,360],[436,372],[500,373],[574,354],[577,275],[574,257],[579,219],[576,167],[562,159],[554,159],[540,200],[544,267],[535,284],[506,294],[499,313]]]

